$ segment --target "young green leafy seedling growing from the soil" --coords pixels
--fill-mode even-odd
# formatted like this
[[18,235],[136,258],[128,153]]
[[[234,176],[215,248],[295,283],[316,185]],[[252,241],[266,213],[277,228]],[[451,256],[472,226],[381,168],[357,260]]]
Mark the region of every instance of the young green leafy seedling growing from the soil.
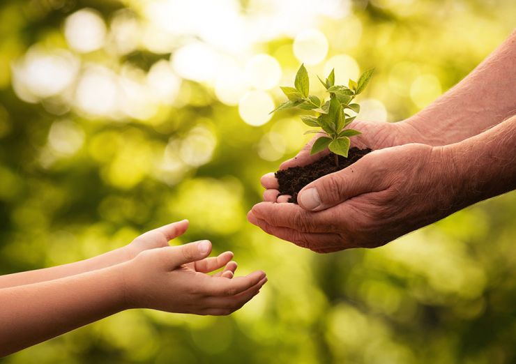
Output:
[[296,74],[295,87],[280,87],[289,100],[276,107],[271,113],[291,107],[317,112],[319,114],[317,117],[312,115],[301,116],[301,120],[306,125],[320,128],[308,130],[305,134],[315,132],[324,135],[314,142],[310,154],[319,153],[328,148],[335,154],[335,165],[338,166],[338,156],[347,158],[350,144],[349,137],[361,134],[358,130],[346,128],[356,118],[356,115],[347,114],[346,109],[351,109],[356,114],[360,112],[360,105],[351,103],[351,101],[364,91],[373,72],[374,68],[366,70],[358,79],[358,82],[349,79],[348,86],[335,85],[334,69],[331,70],[326,81],[317,76],[326,88],[326,92],[330,94],[330,99],[325,101],[324,98],[321,100],[317,96],[310,95],[308,72],[302,64]]

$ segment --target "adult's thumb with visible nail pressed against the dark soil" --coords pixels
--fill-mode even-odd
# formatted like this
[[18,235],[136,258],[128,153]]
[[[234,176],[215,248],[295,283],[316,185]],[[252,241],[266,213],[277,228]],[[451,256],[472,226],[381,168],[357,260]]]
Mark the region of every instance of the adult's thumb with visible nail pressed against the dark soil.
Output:
[[341,171],[309,183],[298,193],[299,206],[308,211],[321,211],[351,197],[379,190],[379,181],[370,178],[370,167],[363,158]]

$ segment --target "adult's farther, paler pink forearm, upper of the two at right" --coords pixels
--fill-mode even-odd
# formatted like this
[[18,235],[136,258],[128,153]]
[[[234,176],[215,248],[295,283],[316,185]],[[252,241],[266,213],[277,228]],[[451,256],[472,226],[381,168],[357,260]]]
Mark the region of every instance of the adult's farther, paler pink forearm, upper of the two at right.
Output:
[[413,142],[440,146],[477,135],[516,112],[516,31],[461,82],[411,116]]

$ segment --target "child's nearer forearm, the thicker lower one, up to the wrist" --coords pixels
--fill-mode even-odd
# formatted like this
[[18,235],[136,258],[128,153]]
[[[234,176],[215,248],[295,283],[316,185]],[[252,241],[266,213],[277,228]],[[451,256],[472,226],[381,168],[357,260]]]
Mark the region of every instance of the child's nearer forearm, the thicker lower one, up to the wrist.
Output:
[[0,356],[123,310],[121,269],[0,289]]

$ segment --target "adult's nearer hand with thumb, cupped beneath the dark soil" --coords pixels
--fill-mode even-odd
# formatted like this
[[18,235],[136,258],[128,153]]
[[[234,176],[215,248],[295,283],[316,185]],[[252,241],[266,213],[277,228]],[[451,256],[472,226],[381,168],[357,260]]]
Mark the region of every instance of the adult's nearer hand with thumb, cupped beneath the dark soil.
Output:
[[453,171],[441,147],[381,149],[305,186],[299,205],[261,202],[248,220],[315,252],[374,248],[456,211]]

